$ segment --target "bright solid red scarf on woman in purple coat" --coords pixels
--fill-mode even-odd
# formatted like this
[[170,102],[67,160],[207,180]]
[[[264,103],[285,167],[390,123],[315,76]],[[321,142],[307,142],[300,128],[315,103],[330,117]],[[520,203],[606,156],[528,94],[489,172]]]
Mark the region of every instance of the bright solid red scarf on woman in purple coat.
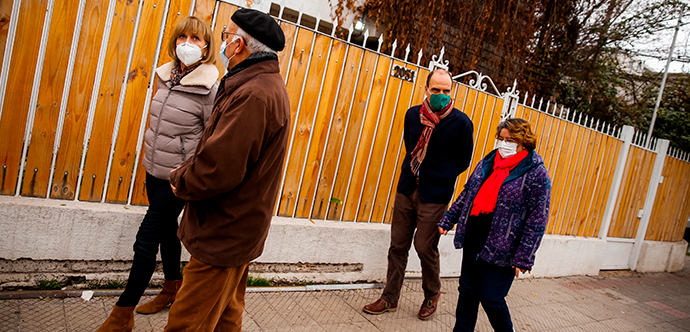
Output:
[[503,159],[501,154],[496,152],[496,158],[494,158],[494,171],[486,179],[482,187],[479,188],[477,197],[474,198],[472,203],[471,216],[478,216],[480,213],[491,213],[496,210],[496,201],[498,200],[498,190],[501,189],[501,185],[510,171],[513,170],[521,161],[527,157],[527,150],[522,150],[515,154],[514,156]]

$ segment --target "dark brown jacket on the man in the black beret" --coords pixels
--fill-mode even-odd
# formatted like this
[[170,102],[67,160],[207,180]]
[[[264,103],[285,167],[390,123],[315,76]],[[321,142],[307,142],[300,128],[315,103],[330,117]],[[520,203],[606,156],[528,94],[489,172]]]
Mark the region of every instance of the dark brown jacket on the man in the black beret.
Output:
[[290,104],[277,57],[254,55],[223,78],[196,152],[170,176],[188,201],[177,234],[214,266],[261,255],[278,195]]

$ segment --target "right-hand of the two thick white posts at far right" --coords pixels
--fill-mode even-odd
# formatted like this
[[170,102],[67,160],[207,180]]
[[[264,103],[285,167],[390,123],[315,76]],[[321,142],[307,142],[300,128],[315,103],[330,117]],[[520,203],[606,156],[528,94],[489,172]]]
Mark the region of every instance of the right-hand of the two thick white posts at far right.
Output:
[[656,191],[659,189],[659,183],[663,180],[661,173],[664,170],[664,161],[666,161],[666,153],[668,152],[669,141],[660,139],[656,147],[656,158],[654,159],[654,169],[652,170],[652,178],[649,180],[649,187],[647,187],[647,197],[644,200],[644,208],[642,210],[642,218],[637,227],[637,235],[635,236],[635,244],[630,253],[630,261],[628,266],[631,270],[637,268],[637,261],[640,258],[640,251],[642,250],[642,243],[647,234],[647,227],[649,227],[649,219],[652,216],[652,209],[654,208],[654,201],[656,201]]

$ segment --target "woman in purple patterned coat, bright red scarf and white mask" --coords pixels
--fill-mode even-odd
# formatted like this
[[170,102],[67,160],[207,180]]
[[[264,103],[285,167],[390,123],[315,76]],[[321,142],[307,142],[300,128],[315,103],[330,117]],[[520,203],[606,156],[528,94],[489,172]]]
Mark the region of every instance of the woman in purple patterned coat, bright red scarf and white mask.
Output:
[[453,331],[474,331],[480,303],[495,331],[513,331],[505,297],[513,279],[532,269],[548,221],[551,179],[529,122],[501,122],[496,139],[498,148],[438,223],[443,235],[457,224],[455,248],[463,249]]

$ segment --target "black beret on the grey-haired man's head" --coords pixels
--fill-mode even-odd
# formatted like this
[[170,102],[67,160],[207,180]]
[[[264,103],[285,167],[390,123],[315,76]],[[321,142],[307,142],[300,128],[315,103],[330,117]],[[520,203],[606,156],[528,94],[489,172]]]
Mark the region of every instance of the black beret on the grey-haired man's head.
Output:
[[270,15],[254,9],[240,8],[232,14],[231,19],[250,36],[276,52],[285,48],[283,30]]

